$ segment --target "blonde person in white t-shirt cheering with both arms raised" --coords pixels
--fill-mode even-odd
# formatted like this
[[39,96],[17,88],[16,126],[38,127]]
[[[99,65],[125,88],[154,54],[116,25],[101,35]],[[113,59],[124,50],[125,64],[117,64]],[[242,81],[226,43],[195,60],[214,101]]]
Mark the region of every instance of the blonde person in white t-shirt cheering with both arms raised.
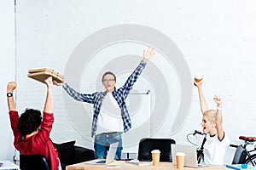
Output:
[[209,110],[207,101],[202,92],[202,82],[195,81],[195,87],[198,89],[201,113],[202,113],[202,131],[207,133],[207,142],[204,144],[204,161],[209,165],[224,165],[224,155],[230,145],[230,139],[224,133],[222,126],[222,99],[218,95],[214,95],[213,100],[217,107],[216,110]]

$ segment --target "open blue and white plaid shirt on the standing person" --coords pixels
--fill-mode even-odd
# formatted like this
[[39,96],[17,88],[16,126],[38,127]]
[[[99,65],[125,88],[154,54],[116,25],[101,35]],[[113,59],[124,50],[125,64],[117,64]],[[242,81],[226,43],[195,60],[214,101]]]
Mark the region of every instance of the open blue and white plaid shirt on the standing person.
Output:
[[[140,64],[135,69],[135,71],[133,71],[131,76],[128,77],[125,84],[121,88],[118,88],[117,90],[114,90],[112,92],[113,98],[116,99],[121,109],[121,115],[124,122],[124,132],[127,132],[131,128],[131,118],[128,113],[127,106],[125,104],[125,99],[127,95],[130,93],[134,82],[137,81],[137,78],[142,73],[146,64],[147,63],[141,61]],[[73,88],[70,88],[67,85],[67,83],[63,84],[63,88],[66,90],[67,94],[73,97],[73,99],[77,99],[79,101],[93,104],[93,120],[92,120],[92,126],[91,126],[91,137],[93,137],[96,134],[96,128],[97,128],[96,125],[97,125],[98,116],[102,107],[102,99],[105,97],[107,92],[105,91],[105,92],[96,92],[94,94],[79,94]]]

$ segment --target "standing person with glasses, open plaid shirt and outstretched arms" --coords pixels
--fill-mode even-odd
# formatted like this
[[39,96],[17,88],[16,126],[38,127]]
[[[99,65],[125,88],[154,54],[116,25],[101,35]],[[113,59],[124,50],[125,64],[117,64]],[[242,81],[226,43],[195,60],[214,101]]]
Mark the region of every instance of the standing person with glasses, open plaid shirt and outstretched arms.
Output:
[[96,92],[94,94],[80,94],[67,83],[57,83],[62,85],[73,99],[93,104],[93,120],[91,127],[91,137],[95,137],[94,149],[96,159],[106,158],[109,144],[119,142],[116,160],[121,158],[122,133],[127,132],[131,128],[131,118],[127,111],[125,99],[130,93],[133,85],[137,82],[137,78],[142,73],[148,59],[154,55],[154,48],[148,48],[143,51],[143,60],[137,66],[135,71],[126,80],[125,84],[116,89],[116,77],[113,72],[106,72],[102,76],[102,84],[106,91]]

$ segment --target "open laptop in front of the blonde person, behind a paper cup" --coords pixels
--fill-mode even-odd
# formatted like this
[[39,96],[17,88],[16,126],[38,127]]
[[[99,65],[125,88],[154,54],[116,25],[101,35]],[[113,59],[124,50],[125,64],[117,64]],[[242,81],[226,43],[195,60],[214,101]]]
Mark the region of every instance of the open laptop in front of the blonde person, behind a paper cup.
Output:
[[195,145],[187,144],[171,144],[172,147],[172,162],[177,165],[176,153],[183,152],[185,154],[185,167],[206,167],[206,164],[197,163],[197,154]]

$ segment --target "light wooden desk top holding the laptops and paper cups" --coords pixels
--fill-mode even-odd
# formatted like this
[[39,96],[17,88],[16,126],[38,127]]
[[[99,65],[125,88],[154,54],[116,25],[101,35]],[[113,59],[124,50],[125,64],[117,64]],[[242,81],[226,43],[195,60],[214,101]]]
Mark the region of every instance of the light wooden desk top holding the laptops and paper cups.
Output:
[[[120,165],[121,167],[105,167],[104,165],[88,165],[84,162],[77,163],[73,165],[69,165],[66,167],[66,170],[116,170],[116,169],[125,169],[125,170],[132,170],[132,169],[140,169],[140,170],[160,170],[160,169],[177,169],[176,166],[172,164],[172,162],[160,162],[160,165],[158,167],[154,166],[137,166],[132,165],[130,163],[126,163],[125,161],[113,161],[110,165]],[[184,167],[184,170],[186,169],[194,169],[194,170],[206,170],[206,169],[215,169],[215,170],[222,170],[222,169],[230,169],[225,166],[209,166],[209,167],[201,167],[201,168],[193,168],[193,167]]]

